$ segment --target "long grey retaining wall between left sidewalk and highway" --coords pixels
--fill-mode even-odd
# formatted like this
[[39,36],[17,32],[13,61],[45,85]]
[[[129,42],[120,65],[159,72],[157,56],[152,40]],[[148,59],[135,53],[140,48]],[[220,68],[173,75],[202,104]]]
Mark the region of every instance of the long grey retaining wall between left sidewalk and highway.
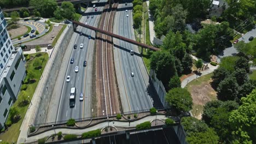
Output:
[[68,26],[67,28],[67,32],[64,35],[63,39],[57,42],[60,43],[59,47],[55,47],[55,50],[57,50],[57,52],[55,57],[52,57],[54,58],[54,60],[53,63],[50,65],[50,72],[48,75],[44,75],[46,78],[46,82],[42,93],[40,93],[40,102],[37,109],[36,118],[34,119],[34,125],[46,122],[49,111],[49,104],[53,94],[57,75],[59,74],[62,58],[66,52],[69,40],[71,39],[74,32],[72,26]]

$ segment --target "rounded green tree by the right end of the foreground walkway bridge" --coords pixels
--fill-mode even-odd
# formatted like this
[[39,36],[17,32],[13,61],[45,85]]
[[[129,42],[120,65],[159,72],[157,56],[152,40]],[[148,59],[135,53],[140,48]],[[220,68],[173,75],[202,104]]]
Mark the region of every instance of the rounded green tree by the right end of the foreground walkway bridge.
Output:
[[181,87],[172,88],[166,94],[166,101],[178,114],[190,111],[193,105],[190,93]]

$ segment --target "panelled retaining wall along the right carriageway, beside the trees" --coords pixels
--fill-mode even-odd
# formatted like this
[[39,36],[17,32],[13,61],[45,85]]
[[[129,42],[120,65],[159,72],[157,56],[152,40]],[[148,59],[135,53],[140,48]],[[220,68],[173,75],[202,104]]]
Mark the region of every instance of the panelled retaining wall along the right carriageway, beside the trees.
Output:
[[162,85],[162,82],[158,80],[154,70],[150,69],[149,76],[150,76],[150,78],[153,82],[153,85],[155,87],[155,91],[158,93],[158,96],[159,96],[159,99],[160,99],[162,105],[164,107],[168,107],[168,104],[165,101],[166,91],[165,91],[164,85]]

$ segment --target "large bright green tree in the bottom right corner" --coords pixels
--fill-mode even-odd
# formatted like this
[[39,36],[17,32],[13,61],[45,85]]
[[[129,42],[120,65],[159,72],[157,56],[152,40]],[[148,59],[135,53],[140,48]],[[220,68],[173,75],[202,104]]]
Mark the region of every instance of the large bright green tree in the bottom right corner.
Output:
[[231,112],[229,122],[235,128],[232,131],[238,143],[252,143],[256,140],[255,135],[255,110],[256,110],[256,89],[247,97],[241,98],[241,103],[237,110]]

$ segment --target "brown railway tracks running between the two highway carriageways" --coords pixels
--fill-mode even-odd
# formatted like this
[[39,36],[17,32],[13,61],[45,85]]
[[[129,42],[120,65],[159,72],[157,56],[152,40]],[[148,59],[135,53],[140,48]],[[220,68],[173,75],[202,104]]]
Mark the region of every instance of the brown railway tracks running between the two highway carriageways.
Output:
[[[113,22],[118,3],[112,9],[107,4],[103,10],[99,28],[108,32],[113,31]],[[118,113],[117,86],[113,64],[113,43],[108,35],[97,33],[96,40],[96,89],[100,100],[101,116],[113,116]],[[97,93],[97,92],[96,92]]]

